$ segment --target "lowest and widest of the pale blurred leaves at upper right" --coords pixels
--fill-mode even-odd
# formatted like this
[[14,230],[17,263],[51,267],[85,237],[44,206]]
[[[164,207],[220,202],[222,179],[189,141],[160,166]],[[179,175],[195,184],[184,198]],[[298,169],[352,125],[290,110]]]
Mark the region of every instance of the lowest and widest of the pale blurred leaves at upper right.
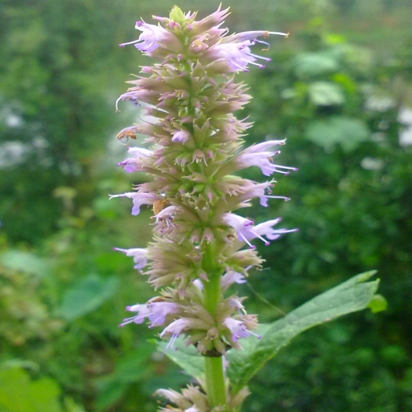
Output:
[[368,139],[369,129],[360,119],[334,116],[310,123],[305,137],[324,148],[339,143],[343,150],[349,152]]

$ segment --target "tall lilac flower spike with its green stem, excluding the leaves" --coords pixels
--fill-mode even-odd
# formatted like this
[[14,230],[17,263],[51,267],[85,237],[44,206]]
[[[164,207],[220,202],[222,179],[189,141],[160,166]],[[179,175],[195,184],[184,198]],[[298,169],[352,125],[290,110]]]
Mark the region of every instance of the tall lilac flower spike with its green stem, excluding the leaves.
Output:
[[[159,337],[168,341],[165,351],[176,350],[176,339],[194,345],[204,359],[198,386],[182,393],[159,389],[174,407],[161,411],[237,411],[248,391],[231,385],[223,360],[228,352],[242,350],[242,339],[258,326],[255,314],[247,314],[244,297],[228,293],[229,286],[246,282],[251,268],[260,268],[262,258],[253,242],[268,245],[284,233],[280,218],[260,224],[236,214],[258,198],[267,207],[275,181],[257,183],[233,173],[257,166],[264,176],[289,174],[295,168],[275,164],[284,140],[269,140],[243,148],[242,136],[251,123],[233,113],[249,102],[247,88],[235,82],[236,73],[249,65],[264,67],[269,58],[258,56],[256,44],[268,48],[266,38],[278,32],[229,34],[222,27],[228,10],[196,21],[196,13],[183,14],[177,7],[169,18],[155,16],[157,25],[137,21],[135,45],[157,60],[141,67],[143,76],[129,81],[133,86],[122,100],[140,106],[156,117],[155,124],[137,124],[122,130],[122,141],[146,135],[148,148],[128,148],[129,157],[119,163],[126,172],[146,172],[152,180],[133,192],[111,195],[133,201],[132,214],[142,205],[152,205],[154,239],[146,249],[118,249],[133,257],[135,268],[148,276],[159,295],[146,303],[128,306],[128,323],[160,327]],[[232,382],[233,383],[233,382]]]

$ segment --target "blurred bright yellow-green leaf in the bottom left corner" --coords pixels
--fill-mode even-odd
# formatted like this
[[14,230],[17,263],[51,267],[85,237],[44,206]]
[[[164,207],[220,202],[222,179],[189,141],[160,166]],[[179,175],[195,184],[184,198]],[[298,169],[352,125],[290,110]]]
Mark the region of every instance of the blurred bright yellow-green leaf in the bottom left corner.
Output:
[[0,371],[0,410],[5,412],[60,412],[60,389],[50,378],[30,381],[23,369]]

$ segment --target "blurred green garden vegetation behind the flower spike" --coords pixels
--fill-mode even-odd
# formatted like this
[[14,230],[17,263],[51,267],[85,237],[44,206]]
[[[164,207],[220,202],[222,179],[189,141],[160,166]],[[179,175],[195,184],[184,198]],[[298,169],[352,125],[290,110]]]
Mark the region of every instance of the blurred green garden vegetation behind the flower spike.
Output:
[[[115,168],[114,101],[142,58],[118,43],[174,1],[1,0],[0,411],[154,411],[152,392],[187,377],[155,352],[152,330],[117,328],[150,297],[116,247],[144,247],[150,211],[108,201],[139,174]],[[187,0],[201,16],[219,1]],[[383,314],[306,332],[255,378],[246,411],[412,410],[412,8],[407,0],[227,1],[233,31],[284,30],[266,69],[242,74],[255,122],[248,143],[288,139],[279,194],[248,216],[299,227],[262,247],[242,293],[272,321],[376,268]],[[411,121],[412,123],[412,121]],[[400,136],[402,137],[400,139]],[[248,177],[261,180],[259,170]]]

